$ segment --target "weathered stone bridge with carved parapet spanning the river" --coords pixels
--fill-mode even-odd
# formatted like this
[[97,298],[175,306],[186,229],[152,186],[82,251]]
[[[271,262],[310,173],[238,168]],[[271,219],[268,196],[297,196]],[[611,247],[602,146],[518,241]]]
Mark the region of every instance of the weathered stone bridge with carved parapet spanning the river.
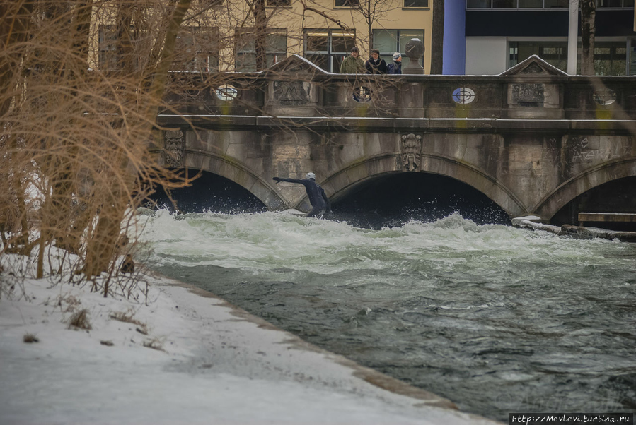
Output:
[[308,210],[302,186],[273,176],[313,171],[338,200],[383,174],[434,173],[547,221],[636,176],[636,77],[568,76],[537,56],[499,76],[337,75],[290,56],[229,78],[170,99],[159,161],[224,176],[270,210]]

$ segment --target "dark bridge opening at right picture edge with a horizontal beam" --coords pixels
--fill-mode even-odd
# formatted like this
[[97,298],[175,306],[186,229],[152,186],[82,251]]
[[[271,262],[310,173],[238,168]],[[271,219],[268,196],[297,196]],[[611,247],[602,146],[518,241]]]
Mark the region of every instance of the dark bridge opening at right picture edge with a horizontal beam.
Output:
[[[600,184],[570,200],[552,217],[553,225],[577,225],[579,213],[636,213],[636,176]],[[586,222],[603,229],[636,231],[634,222]]]

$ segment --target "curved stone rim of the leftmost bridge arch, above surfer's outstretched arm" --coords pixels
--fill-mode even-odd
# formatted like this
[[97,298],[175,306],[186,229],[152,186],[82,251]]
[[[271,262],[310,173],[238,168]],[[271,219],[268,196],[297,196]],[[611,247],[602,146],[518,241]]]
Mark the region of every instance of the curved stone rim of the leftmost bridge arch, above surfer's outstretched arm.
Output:
[[221,157],[212,152],[186,150],[184,167],[201,169],[225,177],[252,193],[268,210],[288,208],[284,200],[274,191],[270,184],[262,179],[259,173],[245,167],[230,157]]

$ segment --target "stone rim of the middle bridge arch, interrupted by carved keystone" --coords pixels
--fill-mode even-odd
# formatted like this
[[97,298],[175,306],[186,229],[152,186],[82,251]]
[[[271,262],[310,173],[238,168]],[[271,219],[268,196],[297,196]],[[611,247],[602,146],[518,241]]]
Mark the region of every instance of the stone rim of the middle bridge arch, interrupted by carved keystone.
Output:
[[[381,174],[403,172],[401,167],[398,167],[399,159],[399,155],[395,155],[395,153],[366,157],[349,164],[348,167],[329,176],[320,184],[325,188],[330,198],[337,200],[354,184]],[[451,177],[475,188],[499,205],[510,217],[527,213],[521,200],[516,198],[509,188],[472,164],[443,155],[422,153],[420,168],[420,172]],[[307,207],[308,200],[305,196],[299,202],[298,208]]]

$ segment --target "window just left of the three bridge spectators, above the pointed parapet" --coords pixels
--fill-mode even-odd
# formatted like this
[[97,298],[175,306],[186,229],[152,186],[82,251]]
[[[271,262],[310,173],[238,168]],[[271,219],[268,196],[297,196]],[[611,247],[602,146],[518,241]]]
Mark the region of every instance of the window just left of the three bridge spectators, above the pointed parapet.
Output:
[[355,30],[305,30],[304,36],[305,58],[333,73],[356,45]]

